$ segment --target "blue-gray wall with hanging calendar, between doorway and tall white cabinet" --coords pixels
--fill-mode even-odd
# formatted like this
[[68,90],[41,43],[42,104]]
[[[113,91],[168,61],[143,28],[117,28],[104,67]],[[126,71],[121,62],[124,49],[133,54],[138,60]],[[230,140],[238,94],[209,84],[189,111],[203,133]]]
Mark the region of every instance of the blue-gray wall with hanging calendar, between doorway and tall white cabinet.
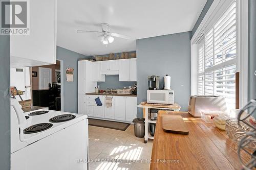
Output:
[[[77,61],[87,56],[57,46],[57,60],[63,60],[64,75],[64,111],[77,113]],[[66,68],[74,68],[74,82],[66,81]]]

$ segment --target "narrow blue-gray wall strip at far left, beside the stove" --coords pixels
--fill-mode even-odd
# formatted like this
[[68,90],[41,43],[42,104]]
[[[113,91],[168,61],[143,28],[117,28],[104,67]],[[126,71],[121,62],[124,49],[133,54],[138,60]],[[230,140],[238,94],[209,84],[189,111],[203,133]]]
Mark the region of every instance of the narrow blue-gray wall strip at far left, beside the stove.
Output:
[[0,35],[0,169],[10,169],[10,36]]

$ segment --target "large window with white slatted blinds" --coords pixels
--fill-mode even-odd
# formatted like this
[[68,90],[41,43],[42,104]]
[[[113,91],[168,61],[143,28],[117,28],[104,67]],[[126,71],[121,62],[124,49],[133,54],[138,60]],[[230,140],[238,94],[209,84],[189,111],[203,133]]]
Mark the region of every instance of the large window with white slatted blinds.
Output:
[[235,108],[237,57],[236,1],[204,30],[198,44],[198,95],[225,96],[228,108]]

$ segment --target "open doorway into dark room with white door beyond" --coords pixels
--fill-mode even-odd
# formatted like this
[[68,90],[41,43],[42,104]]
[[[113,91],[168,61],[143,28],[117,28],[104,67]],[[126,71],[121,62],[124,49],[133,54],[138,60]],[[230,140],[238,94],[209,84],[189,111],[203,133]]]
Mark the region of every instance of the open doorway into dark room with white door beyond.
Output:
[[63,111],[62,70],[63,63],[59,60],[56,64],[32,67],[33,106]]

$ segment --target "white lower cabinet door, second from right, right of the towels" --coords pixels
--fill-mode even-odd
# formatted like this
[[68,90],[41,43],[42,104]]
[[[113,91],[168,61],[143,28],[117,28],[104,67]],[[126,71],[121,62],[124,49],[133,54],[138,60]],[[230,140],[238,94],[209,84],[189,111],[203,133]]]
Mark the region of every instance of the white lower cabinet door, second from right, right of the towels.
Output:
[[115,96],[115,119],[125,120],[125,96]]

